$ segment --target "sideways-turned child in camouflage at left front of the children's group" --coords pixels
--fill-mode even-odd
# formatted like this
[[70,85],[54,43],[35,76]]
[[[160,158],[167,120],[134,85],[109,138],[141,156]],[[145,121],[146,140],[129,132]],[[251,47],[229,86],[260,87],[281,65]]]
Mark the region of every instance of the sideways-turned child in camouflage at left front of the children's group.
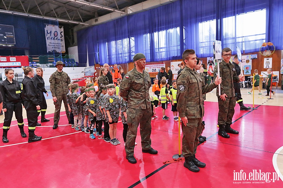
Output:
[[79,85],[72,84],[71,89],[72,89],[71,102],[72,102],[72,110],[74,114],[75,130],[79,131],[80,124],[81,124],[81,112],[80,112],[80,97],[81,96],[77,93],[79,91]]

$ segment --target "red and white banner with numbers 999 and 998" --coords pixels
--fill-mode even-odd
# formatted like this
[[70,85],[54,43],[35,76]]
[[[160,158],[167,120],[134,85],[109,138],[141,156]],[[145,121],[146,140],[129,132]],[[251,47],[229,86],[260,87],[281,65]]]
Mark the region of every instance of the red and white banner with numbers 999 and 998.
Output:
[[23,56],[0,56],[0,67],[29,66],[29,57]]

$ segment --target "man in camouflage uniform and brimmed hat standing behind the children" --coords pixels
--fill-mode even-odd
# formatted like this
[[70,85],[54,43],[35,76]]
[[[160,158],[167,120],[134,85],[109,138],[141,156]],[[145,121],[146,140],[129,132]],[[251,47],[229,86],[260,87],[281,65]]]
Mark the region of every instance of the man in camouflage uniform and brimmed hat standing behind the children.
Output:
[[70,123],[70,116],[67,105],[67,93],[69,92],[68,85],[71,80],[68,74],[62,71],[64,66],[66,65],[62,61],[57,61],[55,65],[57,70],[49,78],[50,91],[52,93],[53,102],[55,105],[53,129],[56,129],[58,127],[62,100],[64,102],[66,115]]

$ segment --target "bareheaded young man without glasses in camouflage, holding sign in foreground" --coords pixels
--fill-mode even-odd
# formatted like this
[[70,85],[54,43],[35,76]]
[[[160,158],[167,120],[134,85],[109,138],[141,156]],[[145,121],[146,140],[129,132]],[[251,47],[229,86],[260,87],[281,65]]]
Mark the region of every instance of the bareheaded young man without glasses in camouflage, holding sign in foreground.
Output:
[[202,77],[195,71],[197,59],[194,50],[185,50],[182,58],[185,68],[177,77],[177,110],[182,119],[182,153],[185,157],[184,167],[192,172],[198,172],[198,167],[205,167],[205,163],[196,159],[198,137],[201,135],[203,125],[203,94],[212,91],[221,78],[214,83],[206,85]]

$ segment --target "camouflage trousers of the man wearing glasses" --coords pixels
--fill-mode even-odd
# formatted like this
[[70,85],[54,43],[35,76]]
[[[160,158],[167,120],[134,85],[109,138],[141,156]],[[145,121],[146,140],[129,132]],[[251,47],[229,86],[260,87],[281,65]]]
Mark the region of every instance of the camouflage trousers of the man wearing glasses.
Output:
[[226,101],[222,101],[218,97],[218,125],[232,124],[232,118],[235,113],[236,97],[226,97]]

